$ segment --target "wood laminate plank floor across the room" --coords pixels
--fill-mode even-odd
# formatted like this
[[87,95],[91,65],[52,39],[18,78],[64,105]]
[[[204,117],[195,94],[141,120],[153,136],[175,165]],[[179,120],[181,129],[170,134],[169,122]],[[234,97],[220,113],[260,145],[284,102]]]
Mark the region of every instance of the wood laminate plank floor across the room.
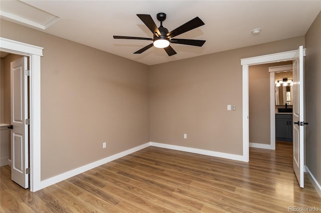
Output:
[[249,163],[149,146],[36,192],[10,175],[2,166],[1,212],[321,211],[307,175],[298,186],[289,142],[250,148]]

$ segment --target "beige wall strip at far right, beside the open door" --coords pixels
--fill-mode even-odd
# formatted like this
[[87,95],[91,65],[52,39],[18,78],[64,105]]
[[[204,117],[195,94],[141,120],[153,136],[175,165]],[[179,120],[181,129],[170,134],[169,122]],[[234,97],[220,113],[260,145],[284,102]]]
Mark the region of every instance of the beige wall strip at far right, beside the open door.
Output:
[[305,34],[306,165],[321,184],[321,13]]

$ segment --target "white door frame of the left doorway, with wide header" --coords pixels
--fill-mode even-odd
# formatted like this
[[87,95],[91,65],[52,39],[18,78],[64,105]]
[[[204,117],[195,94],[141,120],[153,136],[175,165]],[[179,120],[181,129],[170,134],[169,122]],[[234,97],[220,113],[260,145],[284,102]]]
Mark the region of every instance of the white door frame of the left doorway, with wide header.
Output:
[[43,47],[0,37],[0,51],[29,56],[30,74],[30,190],[41,188],[41,92],[40,58]]

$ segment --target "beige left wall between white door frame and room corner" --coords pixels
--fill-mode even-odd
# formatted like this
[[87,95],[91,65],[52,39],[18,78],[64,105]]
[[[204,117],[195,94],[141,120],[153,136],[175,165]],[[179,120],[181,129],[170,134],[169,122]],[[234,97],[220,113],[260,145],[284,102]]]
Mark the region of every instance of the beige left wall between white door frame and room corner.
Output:
[[44,47],[42,180],[149,141],[147,65],[6,20],[1,36]]

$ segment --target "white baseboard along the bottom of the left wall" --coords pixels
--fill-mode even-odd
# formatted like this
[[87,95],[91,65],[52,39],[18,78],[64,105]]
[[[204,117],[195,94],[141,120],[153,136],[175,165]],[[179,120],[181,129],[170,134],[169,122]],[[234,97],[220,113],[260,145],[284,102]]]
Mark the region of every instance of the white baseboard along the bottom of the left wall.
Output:
[[150,145],[149,142],[145,143],[145,144],[142,144],[142,145],[139,145],[139,146],[136,146],[136,147],[133,147],[133,148],[130,148],[128,150],[125,150],[125,151],[122,151],[122,152],[119,152],[117,154],[114,154],[114,155],[111,155],[109,157],[106,157],[106,158],[103,158],[103,159],[100,159],[100,160],[97,160],[95,162],[92,162],[92,163],[89,163],[87,165],[83,165],[83,166],[80,166],[78,168],[75,168],[73,170],[70,170],[70,171],[67,171],[67,172],[64,172],[62,174],[59,174],[59,175],[56,175],[54,177],[50,177],[48,179],[45,179],[43,181],[41,181],[41,187],[38,188],[38,189],[41,189],[41,188],[45,188],[47,186],[50,186],[52,184],[55,184],[57,182],[60,182],[62,180],[65,180],[69,177],[72,177],[72,176],[75,176],[77,174],[80,174],[82,172],[85,172],[85,171],[88,171],[90,169],[93,169],[97,166],[100,166],[102,164],[105,164],[107,162],[110,162],[112,160],[115,160],[115,159],[118,159],[120,157],[123,157],[123,156],[126,156],[130,153],[133,153],[135,151],[138,151],[140,149],[143,149],[143,148],[146,148]]

